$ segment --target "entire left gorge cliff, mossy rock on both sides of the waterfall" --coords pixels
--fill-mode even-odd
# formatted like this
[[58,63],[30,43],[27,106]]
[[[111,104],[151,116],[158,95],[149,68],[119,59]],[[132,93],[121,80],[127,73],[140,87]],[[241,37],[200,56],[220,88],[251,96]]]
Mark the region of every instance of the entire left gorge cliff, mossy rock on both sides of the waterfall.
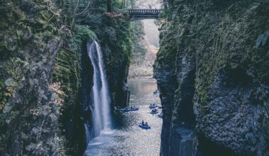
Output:
[[[77,8],[69,2],[0,4],[0,155],[82,155],[83,121],[91,122],[91,111],[83,105],[92,85],[93,70],[85,55],[91,38],[102,43],[113,104],[124,103],[129,23],[105,16],[102,9],[88,17],[88,1],[79,1]],[[84,22],[96,16],[101,16],[100,23]]]

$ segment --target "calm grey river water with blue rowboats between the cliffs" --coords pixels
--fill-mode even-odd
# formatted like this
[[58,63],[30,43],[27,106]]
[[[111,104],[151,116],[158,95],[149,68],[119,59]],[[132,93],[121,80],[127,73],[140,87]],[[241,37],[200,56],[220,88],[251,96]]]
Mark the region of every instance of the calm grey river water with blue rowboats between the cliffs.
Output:
[[[139,111],[118,113],[113,117],[113,130],[102,132],[88,143],[85,155],[159,155],[162,120],[151,115],[149,104],[160,104],[159,94],[154,95],[154,80],[129,80],[130,105],[139,106]],[[161,113],[161,110],[159,110]],[[138,123],[147,121],[150,130],[142,130]]]

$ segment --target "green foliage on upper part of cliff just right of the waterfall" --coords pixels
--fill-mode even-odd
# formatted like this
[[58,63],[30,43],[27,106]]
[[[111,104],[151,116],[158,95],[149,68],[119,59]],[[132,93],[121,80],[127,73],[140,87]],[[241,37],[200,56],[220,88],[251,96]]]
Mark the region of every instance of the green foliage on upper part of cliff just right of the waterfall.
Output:
[[[101,4],[96,4],[94,7],[97,7],[100,11],[105,11],[105,6]],[[110,66],[119,64],[114,61],[122,62],[126,58],[129,62],[132,51],[131,23],[125,16],[122,16],[125,15],[124,10],[115,5],[113,7],[113,10],[117,11],[115,17],[105,15],[103,12],[92,11],[88,20],[91,23],[91,30],[96,33],[101,47],[104,48],[103,51],[108,51],[105,57],[110,58],[107,60]],[[118,17],[117,15],[121,16]],[[117,58],[114,59],[114,57]]]

